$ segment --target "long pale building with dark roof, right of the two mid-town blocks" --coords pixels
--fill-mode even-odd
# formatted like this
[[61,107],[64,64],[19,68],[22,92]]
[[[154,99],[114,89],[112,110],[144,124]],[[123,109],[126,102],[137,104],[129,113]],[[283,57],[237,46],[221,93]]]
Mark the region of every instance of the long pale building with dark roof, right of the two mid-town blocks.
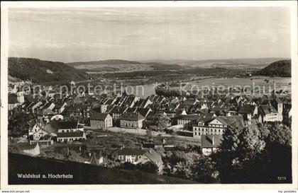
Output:
[[138,112],[126,112],[119,119],[120,127],[141,129],[143,127],[145,117],[140,115]]

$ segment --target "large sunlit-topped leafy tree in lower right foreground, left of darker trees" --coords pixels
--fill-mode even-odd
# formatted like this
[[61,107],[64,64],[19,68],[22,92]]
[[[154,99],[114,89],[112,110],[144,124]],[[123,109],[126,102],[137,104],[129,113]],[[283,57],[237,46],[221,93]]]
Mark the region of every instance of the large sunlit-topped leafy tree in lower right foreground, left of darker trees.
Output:
[[262,165],[256,160],[263,153],[265,141],[258,127],[251,126],[243,129],[226,129],[217,162],[223,183],[258,182],[256,168]]

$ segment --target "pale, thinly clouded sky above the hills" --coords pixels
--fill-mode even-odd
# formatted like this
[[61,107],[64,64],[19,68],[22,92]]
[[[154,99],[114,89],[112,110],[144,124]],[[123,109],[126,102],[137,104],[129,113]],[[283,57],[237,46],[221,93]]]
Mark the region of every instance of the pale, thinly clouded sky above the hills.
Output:
[[104,59],[290,57],[287,7],[9,8],[9,56]]

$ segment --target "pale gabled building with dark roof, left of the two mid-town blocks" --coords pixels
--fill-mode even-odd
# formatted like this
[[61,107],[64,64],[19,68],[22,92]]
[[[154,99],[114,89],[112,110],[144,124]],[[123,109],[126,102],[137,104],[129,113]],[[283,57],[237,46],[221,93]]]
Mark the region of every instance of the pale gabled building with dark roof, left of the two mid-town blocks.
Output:
[[109,113],[94,112],[90,117],[90,127],[94,129],[113,127],[113,118]]

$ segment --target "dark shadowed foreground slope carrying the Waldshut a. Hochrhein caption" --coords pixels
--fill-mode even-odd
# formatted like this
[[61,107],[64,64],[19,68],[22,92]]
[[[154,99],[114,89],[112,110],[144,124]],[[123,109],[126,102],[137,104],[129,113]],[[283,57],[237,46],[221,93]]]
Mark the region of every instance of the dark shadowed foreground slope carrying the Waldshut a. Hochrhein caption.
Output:
[[[18,178],[17,174],[65,174],[72,178]],[[177,177],[155,175],[138,170],[120,170],[66,160],[34,158],[9,153],[10,185],[141,185],[198,184]]]

